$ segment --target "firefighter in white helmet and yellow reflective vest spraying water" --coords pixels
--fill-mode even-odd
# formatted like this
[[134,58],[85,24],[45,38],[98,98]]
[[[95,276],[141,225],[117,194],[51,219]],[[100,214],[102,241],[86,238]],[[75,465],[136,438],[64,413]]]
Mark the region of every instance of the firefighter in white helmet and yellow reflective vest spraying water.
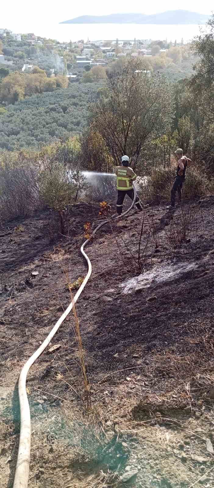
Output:
[[[126,195],[131,200],[134,199],[134,190],[132,182],[136,180],[136,174],[133,169],[129,167],[129,157],[122,156],[121,166],[117,166],[115,173],[117,175],[117,213],[121,215],[123,211],[123,201]],[[138,195],[136,196],[136,208],[140,212],[143,210],[142,203]]]

